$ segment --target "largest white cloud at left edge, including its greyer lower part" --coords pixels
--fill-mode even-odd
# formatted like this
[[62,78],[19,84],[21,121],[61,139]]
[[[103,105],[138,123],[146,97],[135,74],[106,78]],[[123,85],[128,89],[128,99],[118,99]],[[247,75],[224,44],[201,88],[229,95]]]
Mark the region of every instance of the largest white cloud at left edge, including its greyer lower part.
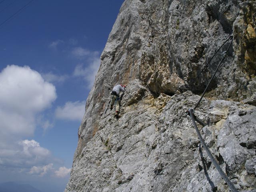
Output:
[[0,89],[0,135],[6,136],[31,136],[36,114],[50,107],[57,97],[55,86],[28,66],[4,68]]

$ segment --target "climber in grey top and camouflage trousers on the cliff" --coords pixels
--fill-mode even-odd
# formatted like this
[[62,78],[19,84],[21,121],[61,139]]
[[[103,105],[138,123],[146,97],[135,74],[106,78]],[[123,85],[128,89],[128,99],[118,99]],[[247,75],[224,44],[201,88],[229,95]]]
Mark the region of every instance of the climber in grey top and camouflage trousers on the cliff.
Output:
[[119,108],[120,108],[120,92],[123,92],[124,94],[124,90],[125,90],[126,86],[122,86],[122,84],[120,85],[116,85],[114,86],[113,90],[112,90],[112,97],[111,97],[111,103],[110,103],[110,110],[112,110],[113,105],[115,104],[115,108],[116,108],[116,114],[115,116],[118,117],[119,114]]

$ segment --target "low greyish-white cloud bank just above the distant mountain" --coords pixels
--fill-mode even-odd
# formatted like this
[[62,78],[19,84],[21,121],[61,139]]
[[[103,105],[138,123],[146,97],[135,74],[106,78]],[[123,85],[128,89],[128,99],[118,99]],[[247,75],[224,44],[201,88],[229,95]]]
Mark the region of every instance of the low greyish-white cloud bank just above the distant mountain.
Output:
[[0,168],[5,166],[9,170],[35,176],[50,174],[52,177],[64,178],[71,170],[66,167],[55,168],[51,152],[35,140],[22,140],[11,149],[0,150],[0,157]]

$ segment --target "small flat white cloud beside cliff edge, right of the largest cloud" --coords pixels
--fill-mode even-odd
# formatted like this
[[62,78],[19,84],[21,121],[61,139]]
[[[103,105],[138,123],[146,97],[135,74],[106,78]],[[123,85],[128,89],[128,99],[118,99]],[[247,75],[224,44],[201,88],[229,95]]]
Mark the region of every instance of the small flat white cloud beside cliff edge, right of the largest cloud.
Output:
[[81,121],[85,112],[85,101],[66,102],[64,106],[58,106],[55,111],[56,118]]

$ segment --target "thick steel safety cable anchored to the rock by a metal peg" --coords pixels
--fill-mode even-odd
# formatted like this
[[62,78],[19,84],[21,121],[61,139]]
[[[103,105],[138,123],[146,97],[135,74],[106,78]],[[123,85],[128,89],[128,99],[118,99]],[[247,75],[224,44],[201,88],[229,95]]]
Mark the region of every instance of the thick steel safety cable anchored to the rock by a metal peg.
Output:
[[[232,35],[230,36],[230,38],[231,38],[231,37],[232,37]],[[230,38],[228,38],[228,40],[229,40]],[[228,40],[226,40],[226,41],[224,42],[224,44],[225,44]],[[196,130],[196,133],[197,133],[197,135],[198,135],[198,138],[199,138],[199,140],[200,140],[202,146],[204,147],[204,149],[206,150],[206,153],[208,154],[210,160],[212,161],[212,163],[214,164],[214,166],[216,167],[216,169],[217,169],[218,172],[220,173],[220,176],[225,180],[225,182],[228,184],[228,186],[229,186],[229,188],[232,190],[232,192],[238,192],[238,190],[237,190],[237,189],[235,188],[235,186],[232,184],[232,182],[230,181],[230,179],[228,178],[228,176],[227,176],[227,175],[222,171],[222,169],[220,168],[220,165],[218,164],[217,160],[216,160],[216,159],[214,158],[214,156],[211,154],[211,152],[210,152],[210,150],[209,150],[207,144],[204,142],[204,139],[202,138],[202,135],[200,134],[200,131],[198,130],[198,127],[197,127],[195,121],[197,121],[198,123],[200,123],[202,126],[206,126],[207,124],[204,123],[202,120],[198,119],[198,118],[194,115],[195,109],[196,109],[196,108],[198,107],[198,105],[200,104],[202,98],[204,97],[204,94],[206,93],[206,90],[208,89],[208,86],[210,85],[210,83],[211,83],[212,79],[214,78],[216,72],[217,72],[218,69],[220,68],[220,65],[221,65],[222,61],[223,61],[224,58],[226,57],[227,51],[228,51],[228,49],[230,48],[230,46],[231,46],[231,44],[232,44],[232,41],[233,41],[233,39],[230,41],[230,44],[229,44],[227,50],[224,52],[224,54],[223,54],[223,56],[222,56],[222,59],[220,60],[220,63],[218,64],[218,67],[216,68],[216,70],[215,70],[215,72],[214,72],[212,78],[210,79],[208,85],[206,86],[206,88],[205,88],[205,90],[204,90],[204,92],[203,92],[201,98],[199,99],[199,101],[197,102],[197,104],[195,105],[194,108],[191,108],[191,109],[188,110],[188,114],[189,114],[190,117],[191,117],[193,126],[194,126],[194,128],[195,128],[195,130]],[[224,44],[222,44],[222,46],[223,46]],[[222,47],[222,46],[221,46],[221,47]],[[220,48],[221,48],[221,47],[220,47]],[[219,48],[218,50],[220,50],[220,48]],[[217,52],[218,52],[218,51],[217,51]],[[216,54],[216,53],[215,53],[215,54]],[[214,54],[214,55],[215,55],[215,54]],[[213,57],[212,57],[212,58],[213,58]]]

